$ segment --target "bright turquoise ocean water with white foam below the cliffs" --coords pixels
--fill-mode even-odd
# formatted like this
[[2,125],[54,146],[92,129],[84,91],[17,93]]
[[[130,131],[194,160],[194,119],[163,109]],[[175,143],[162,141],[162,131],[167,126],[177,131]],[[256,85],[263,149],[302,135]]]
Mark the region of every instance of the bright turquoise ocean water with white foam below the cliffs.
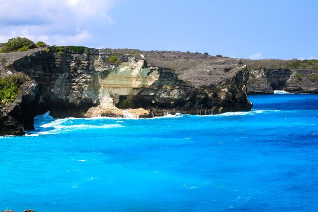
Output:
[[0,137],[0,210],[318,211],[318,95],[284,94],[221,115],[37,116]]

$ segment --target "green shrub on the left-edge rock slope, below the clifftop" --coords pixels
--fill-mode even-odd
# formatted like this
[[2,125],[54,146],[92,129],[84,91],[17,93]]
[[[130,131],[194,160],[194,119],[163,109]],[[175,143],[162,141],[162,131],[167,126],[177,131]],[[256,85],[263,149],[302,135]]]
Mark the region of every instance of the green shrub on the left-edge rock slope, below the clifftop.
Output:
[[19,94],[21,84],[21,75],[10,75],[0,78],[0,102],[3,104],[13,102]]

